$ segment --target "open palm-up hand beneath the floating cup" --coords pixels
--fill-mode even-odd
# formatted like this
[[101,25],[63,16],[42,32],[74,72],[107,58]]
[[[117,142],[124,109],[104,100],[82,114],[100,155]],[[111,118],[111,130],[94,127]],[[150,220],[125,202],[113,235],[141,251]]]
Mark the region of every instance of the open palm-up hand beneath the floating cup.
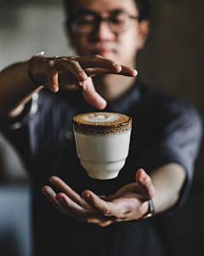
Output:
[[112,223],[140,218],[147,211],[148,203],[155,195],[155,188],[143,169],[135,175],[136,183],[119,189],[115,195],[98,196],[90,190],[82,192],[82,197],[74,192],[59,177],[51,177],[51,183],[62,192],[57,195],[48,186],[42,192],[55,207],[66,216],[78,222],[107,226]]

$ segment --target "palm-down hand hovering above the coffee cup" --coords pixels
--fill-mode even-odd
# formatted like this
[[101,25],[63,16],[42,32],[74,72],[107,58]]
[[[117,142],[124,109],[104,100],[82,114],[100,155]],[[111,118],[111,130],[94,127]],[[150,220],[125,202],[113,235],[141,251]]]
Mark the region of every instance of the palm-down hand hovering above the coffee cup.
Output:
[[95,108],[103,109],[105,100],[94,89],[91,77],[99,74],[136,76],[137,71],[105,59],[99,55],[48,58],[38,55],[33,59],[33,77],[48,82],[49,89],[82,90],[85,100]]

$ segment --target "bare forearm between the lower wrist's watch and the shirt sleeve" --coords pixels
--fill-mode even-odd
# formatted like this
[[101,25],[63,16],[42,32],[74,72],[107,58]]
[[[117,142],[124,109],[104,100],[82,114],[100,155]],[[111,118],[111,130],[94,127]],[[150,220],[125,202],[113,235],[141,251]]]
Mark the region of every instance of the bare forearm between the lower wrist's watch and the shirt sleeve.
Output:
[[156,189],[153,198],[155,212],[162,212],[178,201],[180,189],[183,186],[186,173],[178,164],[161,166],[150,173],[152,183]]

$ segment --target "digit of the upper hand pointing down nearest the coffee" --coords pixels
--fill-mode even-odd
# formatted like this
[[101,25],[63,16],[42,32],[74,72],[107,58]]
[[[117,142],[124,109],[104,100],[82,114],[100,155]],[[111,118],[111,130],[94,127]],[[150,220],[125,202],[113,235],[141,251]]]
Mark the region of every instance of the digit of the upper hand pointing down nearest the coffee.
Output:
[[88,104],[94,108],[104,109],[107,102],[94,89],[94,84],[91,79],[88,79],[87,84],[82,87],[82,95]]

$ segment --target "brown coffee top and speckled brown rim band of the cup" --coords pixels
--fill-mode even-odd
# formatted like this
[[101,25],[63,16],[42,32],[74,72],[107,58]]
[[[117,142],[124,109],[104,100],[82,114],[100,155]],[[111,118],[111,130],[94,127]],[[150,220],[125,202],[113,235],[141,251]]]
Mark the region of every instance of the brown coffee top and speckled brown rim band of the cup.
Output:
[[81,113],[73,118],[74,131],[84,135],[103,136],[129,131],[132,119],[122,113]]

